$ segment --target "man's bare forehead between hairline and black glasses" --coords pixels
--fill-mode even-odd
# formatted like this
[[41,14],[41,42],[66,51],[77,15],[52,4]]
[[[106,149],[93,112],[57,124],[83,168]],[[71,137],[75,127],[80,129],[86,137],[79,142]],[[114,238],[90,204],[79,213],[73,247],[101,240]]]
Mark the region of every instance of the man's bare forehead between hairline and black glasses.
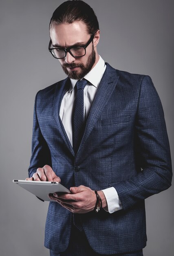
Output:
[[68,47],[78,42],[86,43],[89,39],[86,24],[83,21],[76,21],[71,24],[54,24],[50,29],[50,37],[53,45]]

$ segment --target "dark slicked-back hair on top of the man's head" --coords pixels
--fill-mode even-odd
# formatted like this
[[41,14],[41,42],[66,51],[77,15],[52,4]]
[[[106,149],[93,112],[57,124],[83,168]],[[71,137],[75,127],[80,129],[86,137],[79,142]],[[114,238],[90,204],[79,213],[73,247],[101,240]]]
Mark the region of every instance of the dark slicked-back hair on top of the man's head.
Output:
[[50,29],[53,23],[73,23],[83,21],[88,29],[89,34],[95,34],[99,29],[99,22],[93,9],[81,0],[68,0],[55,9],[50,20]]

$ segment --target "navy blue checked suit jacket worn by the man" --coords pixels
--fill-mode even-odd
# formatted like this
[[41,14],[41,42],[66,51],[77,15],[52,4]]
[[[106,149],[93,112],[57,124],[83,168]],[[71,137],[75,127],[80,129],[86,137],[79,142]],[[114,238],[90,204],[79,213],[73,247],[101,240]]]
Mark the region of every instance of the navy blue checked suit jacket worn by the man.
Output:
[[[67,188],[114,186],[122,210],[78,214],[90,246],[113,254],[145,247],[144,200],[171,186],[172,168],[163,109],[152,80],[106,65],[76,156],[59,117],[68,78],[37,93],[29,176],[48,164]],[[50,202],[47,248],[66,249],[72,215]]]

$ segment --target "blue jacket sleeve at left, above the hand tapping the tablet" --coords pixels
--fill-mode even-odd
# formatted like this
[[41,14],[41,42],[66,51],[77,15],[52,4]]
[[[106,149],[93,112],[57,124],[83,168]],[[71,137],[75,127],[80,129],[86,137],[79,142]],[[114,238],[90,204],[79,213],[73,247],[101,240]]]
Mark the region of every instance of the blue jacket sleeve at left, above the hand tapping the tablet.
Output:
[[[38,92],[39,93],[39,92]],[[38,94],[37,93],[37,94]],[[48,145],[42,135],[40,126],[37,120],[37,95],[35,97],[34,115],[33,115],[33,136],[32,136],[32,152],[29,166],[29,177],[37,171],[37,168],[42,168],[44,165],[51,164],[51,154]]]

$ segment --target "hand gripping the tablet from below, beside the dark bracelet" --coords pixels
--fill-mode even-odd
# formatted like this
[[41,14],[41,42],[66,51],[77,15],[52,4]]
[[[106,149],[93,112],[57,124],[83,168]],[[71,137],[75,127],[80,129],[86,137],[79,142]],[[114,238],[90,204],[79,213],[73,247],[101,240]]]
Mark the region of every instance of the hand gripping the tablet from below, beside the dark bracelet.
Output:
[[[63,207],[73,213],[87,213],[93,211],[96,204],[95,191],[86,186],[78,186],[70,188],[71,194],[49,194],[49,198],[55,200]],[[103,191],[99,191],[102,200],[102,204],[105,205],[106,201]],[[98,193],[99,193],[98,192]]]

